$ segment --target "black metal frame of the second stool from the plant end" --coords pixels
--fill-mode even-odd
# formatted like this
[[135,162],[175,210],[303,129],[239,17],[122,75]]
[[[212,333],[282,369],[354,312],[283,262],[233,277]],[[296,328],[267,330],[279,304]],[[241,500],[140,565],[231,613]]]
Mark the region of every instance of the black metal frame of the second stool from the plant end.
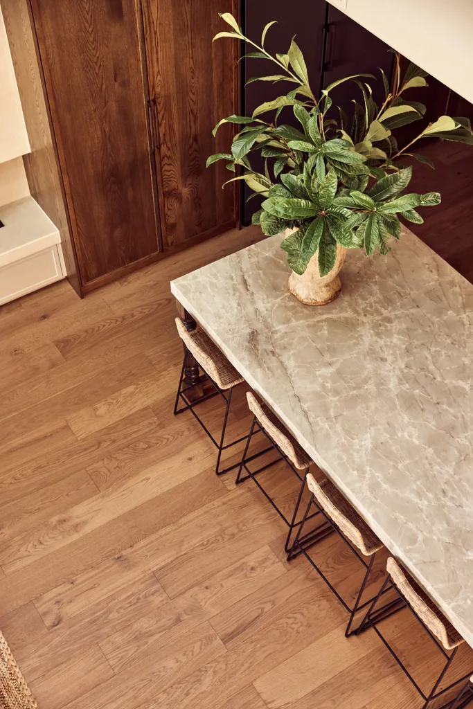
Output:
[[[256,427],[257,427],[257,428],[256,428]],[[269,442],[269,447],[266,448],[265,450],[262,450],[262,451],[260,451],[260,452],[258,452],[258,453],[255,453],[254,455],[252,455],[252,456],[250,456],[250,457],[247,457],[247,452],[248,452],[248,448],[250,447],[250,442],[251,442],[252,437],[253,437],[255,434],[260,433],[260,432],[267,438],[267,440],[268,440],[268,442]],[[254,470],[254,471],[251,471],[251,470],[247,467],[247,463],[251,462],[251,461],[254,460],[255,458],[259,458],[259,457],[262,456],[264,453],[267,453],[267,452],[269,452],[270,450],[275,450],[275,451],[277,452],[277,454],[278,454],[277,459],[272,460],[271,462],[269,462],[269,463],[267,463],[267,464],[265,464],[265,465],[262,465],[262,467],[258,468],[257,470]],[[285,543],[285,545],[284,545],[284,551],[289,552],[289,549],[291,549],[291,535],[292,535],[292,532],[294,531],[294,529],[296,529],[297,527],[299,527],[299,525],[301,525],[301,523],[302,523],[302,520],[301,520],[301,522],[296,522],[296,516],[297,516],[297,512],[298,512],[298,510],[299,510],[299,505],[300,505],[300,502],[301,502],[302,494],[304,493],[304,486],[301,487],[301,491],[299,492],[299,497],[297,498],[296,506],[295,506],[295,508],[294,508],[294,513],[293,513],[293,515],[292,515],[292,517],[291,517],[291,520],[288,520],[288,519],[286,518],[286,516],[284,515],[284,513],[282,513],[282,511],[279,509],[279,507],[277,506],[277,504],[274,502],[274,500],[272,499],[272,497],[269,495],[269,493],[267,493],[267,491],[266,491],[266,490],[263,488],[263,486],[260,484],[260,481],[257,480],[257,477],[256,477],[257,474],[262,473],[262,471],[267,470],[268,468],[272,467],[273,465],[279,463],[280,460],[284,460],[284,462],[289,466],[289,468],[291,469],[291,471],[293,471],[293,473],[299,478],[299,480],[302,480],[302,481],[305,480],[305,476],[306,476],[306,474],[307,474],[307,472],[308,472],[308,467],[307,467],[306,470],[304,471],[304,478],[301,477],[301,474],[299,473],[299,470],[292,464],[292,462],[289,460],[289,458],[288,458],[288,457],[282,452],[282,450],[279,448],[279,446],[277,445],[277,443],[275,443],[274,440],[272,440],[272,438],[267,434],[267,432],[265,431],[265,429],[262,428],[262,426],[261,426],[260,423],[258,422],[256,416],[254,416],[254,417],[253,417],[253,420],[252,420],[250,432],[249,432],[248,437],[247,437],[247,442],[246,442],[246,446],[245,446],[245,452],[243,452],[243,457],[242,457],[241,462],[240,462],[240,469],[238,470],[238,474],[237,474],[237,476],[236,476],[235,485],[240,485],[241,483],[245,482],[245,480],[247,480],[248,478],[251,478],[251,479],[256,483],[257,487],[260,489],[260,491],[262,491],[262,493],[263,493],[263,495],[265,496],[265,498],[267,499],[267,501],[268,501],[269,503],[271,503],[271,505],[273,506],[273,508],[277,511],[279,517],[280,517],[280,518],[284,521],[284,523],[286,523],[286,525],[289,527],[289,532],[288,532],[287,537],[286,537],[286,543]],[[245,469],[246,475],[244,475],[244,476],[242,477],[243,469]],[[311,519],[311,518],[313,518],[313,517],[316,517],[316,515],[318,515],[318,512],[316,512],[316,513],[314,513],[313,515],[311,515],[311,517],[310,517],[309,519]],[[322,529],[321,527],[323,527],[323,529]],[[321,527],[317,527],[317,529],[320,530],[320,531],[319,531],[319,534],[321,535],[321,537],[320,537],[321,539],[322,539],[323,537],[326,537],[328,534],[331,534],[331,532],[333,531],[333,530],[331,530],[330,528],[326,527],[325,523],[324,523],[323,525],[321,525]]]

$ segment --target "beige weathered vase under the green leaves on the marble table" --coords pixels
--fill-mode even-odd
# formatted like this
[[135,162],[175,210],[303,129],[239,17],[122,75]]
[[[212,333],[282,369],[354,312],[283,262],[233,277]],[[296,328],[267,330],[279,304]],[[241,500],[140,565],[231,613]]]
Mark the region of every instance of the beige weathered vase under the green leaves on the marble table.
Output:
[[[287,233],[290,233],[287,230]],[[308,262],[306,271],[302,276],[291,272],[289,276],[289,291],[301,303],[308,306],[325,306],[338,296],[342,283],[338,274],[345,261],[346,249],[337,244],[337,257],[335,266],[326,276],[321,276],[318,270],[318,251]]]

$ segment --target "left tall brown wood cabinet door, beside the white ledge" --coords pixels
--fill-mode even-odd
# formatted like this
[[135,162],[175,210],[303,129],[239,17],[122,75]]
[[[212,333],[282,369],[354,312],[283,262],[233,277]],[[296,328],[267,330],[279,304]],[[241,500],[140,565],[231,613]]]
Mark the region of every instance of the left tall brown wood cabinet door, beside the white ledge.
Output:
[[84,286],[159,250],[140,13],[135,0],[31,6]]

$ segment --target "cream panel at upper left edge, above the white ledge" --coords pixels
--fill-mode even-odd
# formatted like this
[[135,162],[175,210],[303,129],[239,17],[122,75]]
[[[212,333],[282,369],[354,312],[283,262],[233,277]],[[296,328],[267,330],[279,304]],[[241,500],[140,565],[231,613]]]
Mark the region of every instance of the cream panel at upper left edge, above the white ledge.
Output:
[[30,152],[30,143],[0,10],[0,162],[27,152]]

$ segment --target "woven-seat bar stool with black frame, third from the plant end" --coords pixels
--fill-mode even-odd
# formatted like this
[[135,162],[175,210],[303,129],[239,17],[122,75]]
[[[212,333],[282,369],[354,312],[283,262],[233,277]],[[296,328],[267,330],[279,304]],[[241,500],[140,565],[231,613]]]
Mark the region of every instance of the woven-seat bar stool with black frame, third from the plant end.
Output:
[[[298,554],[304,554],[308,562],[316,569],[317,573],[321,576],[325,584],[330,588],[330,590],[338,598],[338,601],[343,605],[343,608],[350,613],[350,620],[348,621],[347,628],[345,630],[345,637],[350,637],[356,630],[352,630],[352,623],[355,619],[355,615],[360,612],[363,608],[370,605],[374,598],[369,598],[365,603],[361,603],[363,592],[367,586],[369,576],[372,572],[374,559],[376,558],[377,552],[384,549],[384,545],[370,529],[364,519],[360,517],[355,509],[352,508],[347,499],[340,493],[337,487],[330,482],[330,480],[323,479],[320,483],[316,481],[311,473],[306,476],[307,487],[311,491],[311,498],[308,501],[308,506],[304,517],[302,518],[301,525],[297,530],[296,538],[294,540],[294,545],[289,551],[288,560],[294,559]],[[304,490],[304,481],[301,486],[301,493],[299,494],[298,505],[301,501],[302,491]],[[306,520],[308,519],[309,512],[311,508],[315,507],[325,518],[326,523],[330,526],[332,531],[337,532],[340,539],[345,542],[347,547],[355,554],[355,556],[360,560],[362,565],[365,567],[365,577],[362,581],[360,591],[357,594],[355,605],[350,608],[340,593],[334,588],[330,581],[327,579],[323,571],[319,569],[318,565],[314,559],[308,554],[308,549],[311,549],[319,541],[318,531],[313,530],[308,532],[306,535],[303,534],[304,526],[306,525]],[[296,514],[296,511],[294,512]],[[314,534],[315,532],[315,534]],[[350,541],[348,541],[350,540]],[[350,542],[352,542],[350,544]],[[365,562],[361,554],[364,557],[369,557],[369,562]],[[386,589],[386,592],[389,589]],[[376,596],[378,598],[378,596]],[[379,613],[386,618],[388,615],[392,615],[396,612],[397,599],[394,603],[386,603],[380,610]]]

